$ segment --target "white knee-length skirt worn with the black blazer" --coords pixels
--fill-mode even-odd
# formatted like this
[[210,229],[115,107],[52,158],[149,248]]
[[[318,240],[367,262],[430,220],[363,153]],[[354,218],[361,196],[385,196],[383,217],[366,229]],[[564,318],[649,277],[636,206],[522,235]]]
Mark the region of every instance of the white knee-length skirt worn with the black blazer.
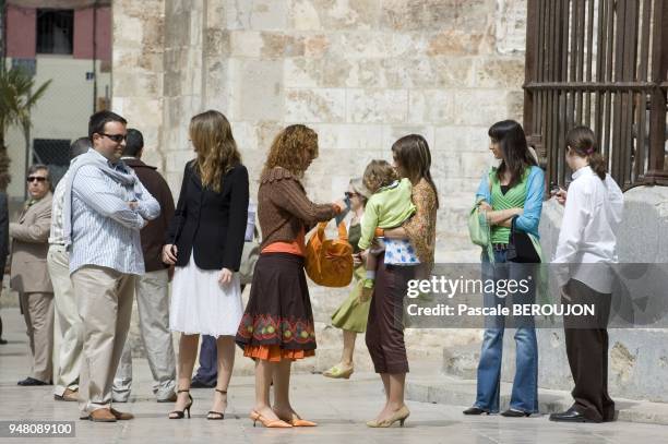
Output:
[[219,269],[201,269],[194,251],[184,267],[176,267],[171,281],[169,328],[189,335],[235,336],[243,315],[237,273],[220,285]]

